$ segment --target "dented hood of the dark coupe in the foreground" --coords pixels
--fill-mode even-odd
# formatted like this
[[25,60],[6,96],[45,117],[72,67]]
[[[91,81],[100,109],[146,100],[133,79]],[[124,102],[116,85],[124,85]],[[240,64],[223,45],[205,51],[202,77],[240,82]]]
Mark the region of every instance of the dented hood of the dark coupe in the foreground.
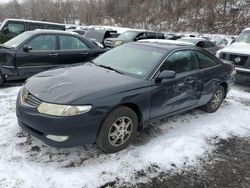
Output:
[[70,104],[82,97],[138,81],[139,79],[86,63],[37,74],[28,79],[24,87],[42,101]]

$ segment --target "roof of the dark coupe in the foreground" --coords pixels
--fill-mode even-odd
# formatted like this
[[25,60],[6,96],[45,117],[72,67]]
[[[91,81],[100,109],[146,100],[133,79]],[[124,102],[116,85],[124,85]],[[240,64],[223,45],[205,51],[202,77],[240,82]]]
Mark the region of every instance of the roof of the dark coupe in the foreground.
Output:
[[161,48],[165,49],[166,51],[173,51],[177,49],[198,49],[195,45],[179,45],[179,44],[168,44],[167,43],[159,43],[159,42],[148,42],[148,41],[137,41],[137,42],[131,42],[130,44],[139,44],[144,45],[148,47],[154,47],[154,48]]

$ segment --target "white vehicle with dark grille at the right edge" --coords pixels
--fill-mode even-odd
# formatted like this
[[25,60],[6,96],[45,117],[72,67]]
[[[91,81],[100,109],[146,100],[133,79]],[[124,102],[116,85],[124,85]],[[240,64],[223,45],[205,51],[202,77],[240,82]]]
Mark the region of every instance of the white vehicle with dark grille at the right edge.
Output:
[[236,81],[250,82],[250,28],[245,29],[230,46],[219,50],[216,54],[221,59],[230,60],[237,70]]

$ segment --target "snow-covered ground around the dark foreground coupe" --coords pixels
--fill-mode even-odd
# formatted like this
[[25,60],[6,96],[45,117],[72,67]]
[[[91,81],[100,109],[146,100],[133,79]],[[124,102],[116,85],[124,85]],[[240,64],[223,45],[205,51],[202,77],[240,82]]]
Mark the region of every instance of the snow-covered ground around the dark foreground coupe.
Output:
[[[19,89],[0,89],[0,187],[98,187],[112,181],[133,185],[162,171],[199,168],[199,159],[220,138],[250,136],[250,93],[234,87],[218,112],[197,109],[173,116],[146,128],[119,153],[104,154],[95,145],[55,149],[19,128]],[[140,171],[146,176],[140,177]]]

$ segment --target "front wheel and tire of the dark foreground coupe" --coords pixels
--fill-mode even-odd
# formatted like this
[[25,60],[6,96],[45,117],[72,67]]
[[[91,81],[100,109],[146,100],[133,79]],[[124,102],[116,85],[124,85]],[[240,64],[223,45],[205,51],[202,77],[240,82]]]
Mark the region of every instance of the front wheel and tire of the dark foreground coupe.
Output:
[[134,139],[137,128],[136,113],[128,107],[118,107],[104,120],[96,143],[106,153],[118,152],[126,148]]

